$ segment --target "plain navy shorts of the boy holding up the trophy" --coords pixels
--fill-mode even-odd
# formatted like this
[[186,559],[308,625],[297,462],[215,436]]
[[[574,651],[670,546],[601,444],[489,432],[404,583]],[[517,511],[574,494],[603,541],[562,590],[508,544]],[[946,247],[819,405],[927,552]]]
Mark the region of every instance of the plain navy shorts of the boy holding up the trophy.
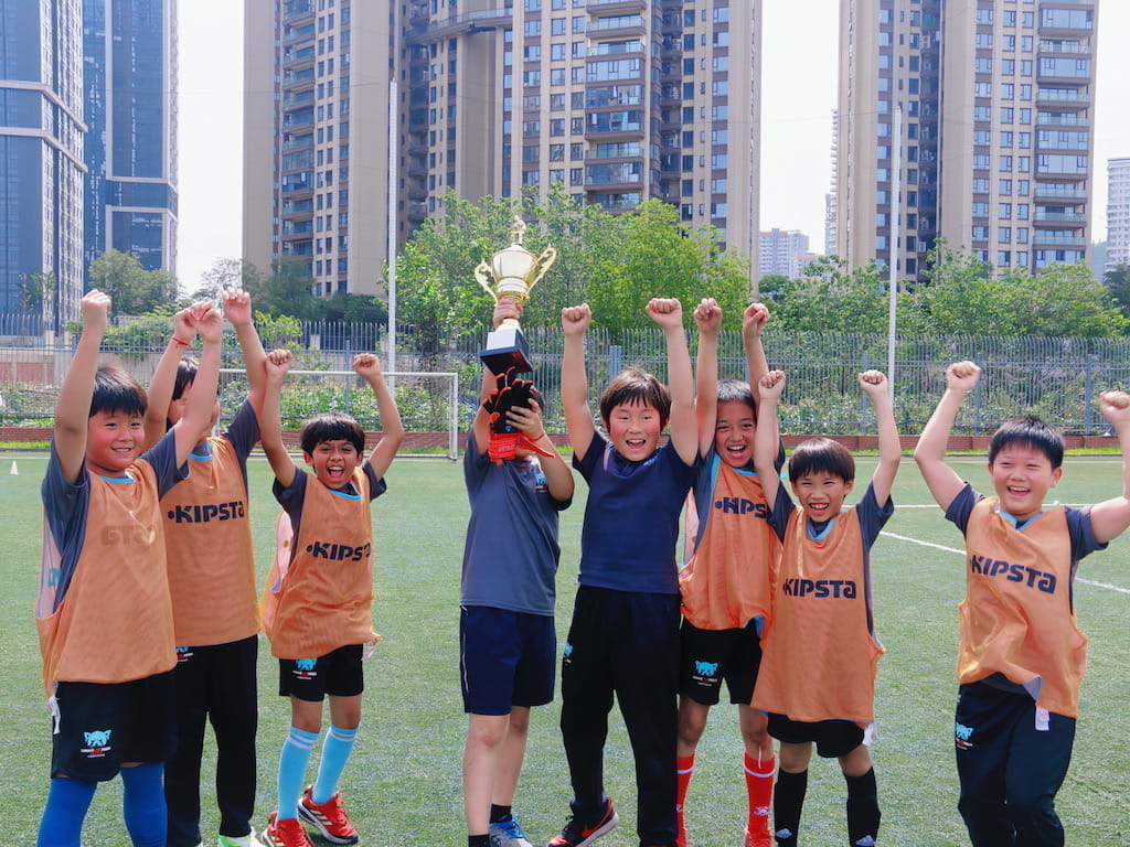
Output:
[[508,715],[512,706],[551,702],[557,676],[554,619],[460,606],[459,672],[463,710],[471,715]]

